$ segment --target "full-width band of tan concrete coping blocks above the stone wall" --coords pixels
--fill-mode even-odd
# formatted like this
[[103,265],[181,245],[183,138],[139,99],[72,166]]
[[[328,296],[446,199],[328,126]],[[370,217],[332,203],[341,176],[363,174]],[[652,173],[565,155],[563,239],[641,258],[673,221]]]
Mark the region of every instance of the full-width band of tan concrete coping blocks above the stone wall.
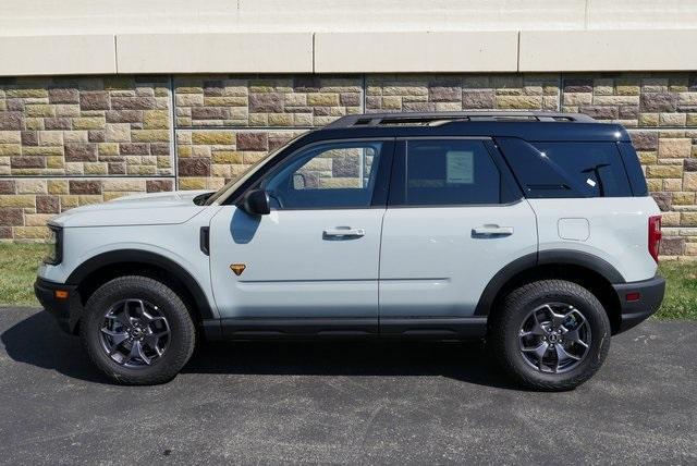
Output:
[[0,36],[0,75],[682,71],[694,44],[697,29]]

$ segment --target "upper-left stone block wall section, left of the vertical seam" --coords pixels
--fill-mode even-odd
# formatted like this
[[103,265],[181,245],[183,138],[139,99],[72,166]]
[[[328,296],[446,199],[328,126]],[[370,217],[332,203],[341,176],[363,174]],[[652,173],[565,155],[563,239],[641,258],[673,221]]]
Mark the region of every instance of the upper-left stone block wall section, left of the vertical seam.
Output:
[[173,174],[168,83],[0,81],[0,175]]

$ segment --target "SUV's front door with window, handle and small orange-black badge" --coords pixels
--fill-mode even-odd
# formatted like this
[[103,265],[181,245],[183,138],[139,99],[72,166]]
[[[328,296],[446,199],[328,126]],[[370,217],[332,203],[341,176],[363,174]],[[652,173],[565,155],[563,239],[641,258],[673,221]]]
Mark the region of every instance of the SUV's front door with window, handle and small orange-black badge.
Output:
[[235,206],[216,213],[210,267],[223,319],[358,318],[377,329],[382,177],[393,146],[311,145],[253,186],[269,194],[270,214]]

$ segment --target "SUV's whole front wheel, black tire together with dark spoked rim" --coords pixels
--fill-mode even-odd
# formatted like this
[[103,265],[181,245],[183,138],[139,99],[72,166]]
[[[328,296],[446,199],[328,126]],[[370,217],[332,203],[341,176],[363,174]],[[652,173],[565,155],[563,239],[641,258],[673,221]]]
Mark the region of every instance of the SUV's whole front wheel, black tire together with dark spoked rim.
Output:
[[194,322],[176,293],[139,275],[101,285],[85,305],[80,333],[95,365],[111,380],[130,385],[172,380],[196,341]]

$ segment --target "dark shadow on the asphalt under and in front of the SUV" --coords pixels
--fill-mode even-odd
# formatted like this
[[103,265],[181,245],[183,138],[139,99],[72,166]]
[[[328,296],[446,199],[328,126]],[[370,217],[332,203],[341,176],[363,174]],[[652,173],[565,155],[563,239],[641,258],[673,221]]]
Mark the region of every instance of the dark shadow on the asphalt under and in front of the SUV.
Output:
[[[76,336],[60,331],[46,311],[0,335],[10,358],[68,377],[109,383]],[[206,343],[186,373],[313,376],[443,376],[467,383],[517,389],[481,343],[438,342],[235,342]]]

